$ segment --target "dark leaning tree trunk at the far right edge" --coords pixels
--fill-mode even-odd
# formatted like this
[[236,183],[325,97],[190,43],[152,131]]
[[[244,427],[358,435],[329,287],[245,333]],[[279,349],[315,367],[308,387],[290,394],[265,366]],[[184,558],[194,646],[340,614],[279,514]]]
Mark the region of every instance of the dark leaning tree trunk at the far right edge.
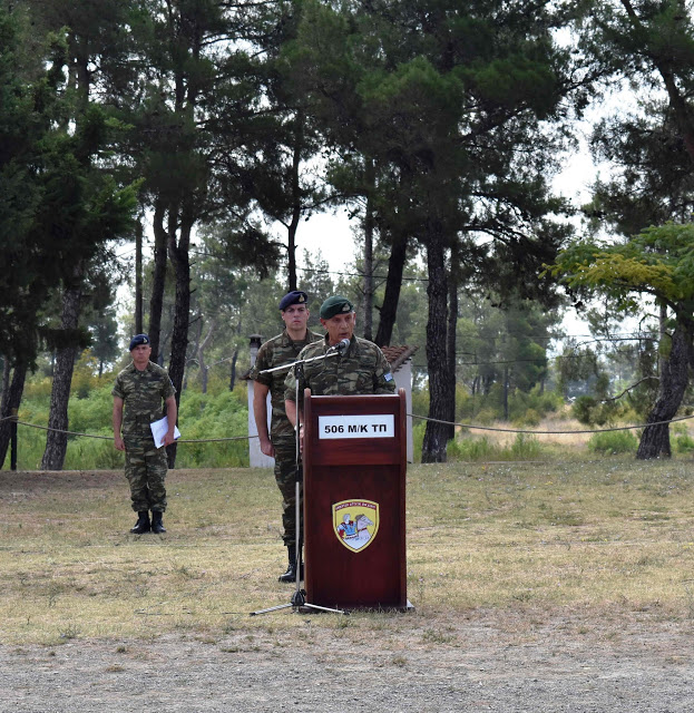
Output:
[[[636,458],[669,458],[669,424],[658,423],[668,421],[677,413],[688,384],[688,370],[692,364],[693,324],[677,321],[672,335],[672,345],[667,359],[663,359],[661,383],[655,406],[646,419],[647,426],[641,437]],[[657,424],[656,424],[657,423]]]

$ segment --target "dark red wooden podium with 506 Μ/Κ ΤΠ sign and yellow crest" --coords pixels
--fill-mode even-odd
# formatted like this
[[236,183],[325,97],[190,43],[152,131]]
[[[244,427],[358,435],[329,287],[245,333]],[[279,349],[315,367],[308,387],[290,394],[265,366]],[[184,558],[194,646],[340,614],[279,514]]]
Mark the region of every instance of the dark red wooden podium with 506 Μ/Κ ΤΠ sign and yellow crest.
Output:
[[404,391],[304,392],[306,602],[405,611]]

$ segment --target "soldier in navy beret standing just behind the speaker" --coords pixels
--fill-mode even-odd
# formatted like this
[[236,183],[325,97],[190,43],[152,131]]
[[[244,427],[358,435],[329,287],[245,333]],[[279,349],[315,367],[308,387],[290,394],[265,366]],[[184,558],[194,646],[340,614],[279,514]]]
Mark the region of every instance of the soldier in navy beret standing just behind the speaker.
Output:
[[[296,434],[284,412],[284,378],[286,370],[261,373],[296,361],[299,352],[321,339],[307,329],[309,309],[305,292],[294,291],[282,297],[280,314],[285,324],[282,334],[267,340],[258,350],[251,372],[253,413],[261,441],[261,451],[275,459],[275,480],[282,492],[282,526],[287,548],[289,566],[280,582],[296,579]],[[272,422],[267,432],[267,392],[271,394]]]

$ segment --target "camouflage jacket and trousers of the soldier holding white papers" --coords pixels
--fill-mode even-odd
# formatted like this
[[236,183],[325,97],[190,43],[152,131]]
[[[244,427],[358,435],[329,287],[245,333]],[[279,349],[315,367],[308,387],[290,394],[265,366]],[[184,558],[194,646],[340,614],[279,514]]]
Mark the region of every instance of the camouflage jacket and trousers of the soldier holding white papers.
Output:
[[166,448],[155,447],[149,424],[166,414],[163,403],[175,393],[166,369],[153,362],[144,371],[130,364],[116,377],[111,394],[125,402],[125,475],[136,512],[166,510]]

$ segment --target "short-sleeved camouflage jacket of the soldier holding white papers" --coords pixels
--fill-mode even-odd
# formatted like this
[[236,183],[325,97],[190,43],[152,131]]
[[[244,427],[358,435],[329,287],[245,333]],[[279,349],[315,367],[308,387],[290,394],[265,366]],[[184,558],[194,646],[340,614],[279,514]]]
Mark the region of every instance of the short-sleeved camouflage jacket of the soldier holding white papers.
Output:
[[154,362],[138,371],[126,367],[117,377],[111,394],[125,401],[124,433],[147,434],[149,424],[166,416],[164,402],[176,393],[166,369]]

